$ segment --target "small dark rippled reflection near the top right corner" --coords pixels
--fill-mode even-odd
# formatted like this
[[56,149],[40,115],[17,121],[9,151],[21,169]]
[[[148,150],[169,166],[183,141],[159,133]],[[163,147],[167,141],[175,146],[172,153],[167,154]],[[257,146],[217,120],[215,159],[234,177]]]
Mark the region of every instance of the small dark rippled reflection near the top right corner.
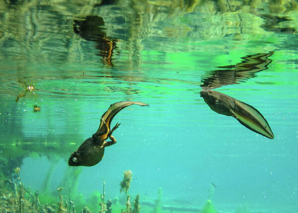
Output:
[[261,27],[266,31],[277,33],[297,33],[297,30],[293,27],[278,27],[280,22],[291,21],[293,19],[271,14],[258,14],[258,16],[266,21],[265,24],[261,25]]

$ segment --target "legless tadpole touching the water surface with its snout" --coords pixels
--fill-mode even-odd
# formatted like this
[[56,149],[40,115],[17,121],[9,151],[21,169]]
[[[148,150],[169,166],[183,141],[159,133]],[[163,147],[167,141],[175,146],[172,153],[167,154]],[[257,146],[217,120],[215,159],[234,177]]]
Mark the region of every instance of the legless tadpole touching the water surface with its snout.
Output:
[[232,116],[250,130],[270,139],[274,138],[267,120],[253,106],[213,90],[202,90],[200,95],[217,113]]

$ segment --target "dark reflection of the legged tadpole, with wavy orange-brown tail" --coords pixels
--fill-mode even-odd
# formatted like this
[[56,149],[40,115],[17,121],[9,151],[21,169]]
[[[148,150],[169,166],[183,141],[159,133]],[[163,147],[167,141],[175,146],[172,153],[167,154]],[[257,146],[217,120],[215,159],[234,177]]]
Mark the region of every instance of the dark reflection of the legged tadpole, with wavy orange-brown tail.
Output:
[[100,16],[86,16],[81,20],[74,20],[74,33],[87,41],[96,42],[95,48],[99,50],[103,63],[112,66],[113,51],[116,49],[117,39],[108,37],[104,31],[104,20]]

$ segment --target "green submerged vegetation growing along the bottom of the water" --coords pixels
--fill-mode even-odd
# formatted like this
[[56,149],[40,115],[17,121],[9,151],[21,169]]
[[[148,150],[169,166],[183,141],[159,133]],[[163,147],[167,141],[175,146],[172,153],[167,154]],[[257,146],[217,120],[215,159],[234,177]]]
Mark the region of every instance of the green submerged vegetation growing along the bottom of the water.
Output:
[[[31,187],[24,186],[21,182],[19,167],[13,169],[13,175],[10,179],[3,175],[0,171],[0,212],[1,213],[169,213],[169,212],[199,212],[199,213],[224,213],[216,211],[211,200],[207,200],[202,209],[189,207],[187,203],[182,206],[169,206],[163,204],[162,188],[158,189],[157,199],[153,201],[140,200],[140,194],[137,194],[135,199],[129,195],[129,189],[132,182],[133,173],[130,170],[124,171],[124,178],[120,182],[120,191],[125,192],[126,202],[119,202],[118,197],[106,200],[105,181],[102,184],[102,193],[98,190],[94,191],[89,198],[85,198],[77,192],[78,177],[81,169],[73,171],[72,167],[65,173],[72,180],[69,180],[73,187],[65,190],[64,187],[59,187],[51,191],[49,182],[53,168],[49,169],[48,179],[45,180],[41,192],[39,189],[33,191]],[[69,175],[70,173],[74,175]],[[61,186],[67,186],[66,178],[64,178]],[[215,185],[211,184],[212,198],[215,192]],[[143,206],[141,209],[141,205]],[[235,213],[254,213],[249,209],[241,207],[236,209]]]

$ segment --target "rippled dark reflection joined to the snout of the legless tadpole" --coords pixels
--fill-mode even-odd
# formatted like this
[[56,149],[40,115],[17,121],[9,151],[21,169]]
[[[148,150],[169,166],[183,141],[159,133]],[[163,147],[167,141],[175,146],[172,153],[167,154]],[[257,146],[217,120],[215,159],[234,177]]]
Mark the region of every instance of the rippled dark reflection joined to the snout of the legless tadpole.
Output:
[[239,84],[250,78],[256,77],[257,72],[267,70],[272,62],[268,57],[274,52],[259,53],[242,57],[243,61],[236,65],[222,66],[223,70],[214,70],[203,75],[201,87],[203,89],[215,89],[224,85]]

